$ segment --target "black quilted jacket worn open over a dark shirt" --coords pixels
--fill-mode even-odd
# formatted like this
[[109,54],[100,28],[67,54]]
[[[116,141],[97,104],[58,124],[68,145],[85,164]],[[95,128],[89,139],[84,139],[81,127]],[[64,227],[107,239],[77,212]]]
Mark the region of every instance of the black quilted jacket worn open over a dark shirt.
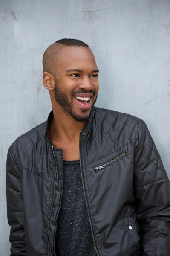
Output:
[[[8,151],[11,256],[55,256],[63,152],[49,139],[52,118]],[[170,256],[170,182],[145,123],[93,107],[80,133],[80,163],[97,255]]]

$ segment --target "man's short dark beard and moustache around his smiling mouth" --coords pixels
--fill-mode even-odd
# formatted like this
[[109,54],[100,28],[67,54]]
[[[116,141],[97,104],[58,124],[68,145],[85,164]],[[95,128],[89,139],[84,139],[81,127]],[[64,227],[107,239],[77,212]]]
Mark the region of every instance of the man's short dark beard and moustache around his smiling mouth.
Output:
[[[84,115],[78,115],[75,111],[74,111],[74,107],[73,107],[73,99],[74,99],[74,95],[78,94],[78,93],[84,93],[84,91],[76,91],[76,92],[72,92],[71,94],[71,102],[69,101],[68,96],[66,95],[66,93],[64,93],[61,88],[58,86],[58,80],[57,78],[55,78],[55,100],[56,102],[70,115],[72,116],[72,118],[74,118],[76,121],[78,122],[84,122],[87,121],[89,119],[89,114],[84,114]],[[95,95],[95,91],[89,91],[89,93],[93,93],[93,95]],[[97,97],[98,94],[95,98],[95,102],[97,101]],[[93,105],[95,104],[95,102],[93,103]],[[89,111],[89,110],[88,110]],[[81,111],[82,113],[86,113],[87,110],[84,109]]]

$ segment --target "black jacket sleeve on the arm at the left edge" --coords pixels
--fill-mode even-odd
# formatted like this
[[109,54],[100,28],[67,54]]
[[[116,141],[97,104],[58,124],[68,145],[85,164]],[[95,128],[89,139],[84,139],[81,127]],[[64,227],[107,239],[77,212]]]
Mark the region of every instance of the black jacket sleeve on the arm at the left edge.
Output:
[[26,256],[20,171],[10,150],[6,163],[6,196],[8,224],[11,226],[11,256]]

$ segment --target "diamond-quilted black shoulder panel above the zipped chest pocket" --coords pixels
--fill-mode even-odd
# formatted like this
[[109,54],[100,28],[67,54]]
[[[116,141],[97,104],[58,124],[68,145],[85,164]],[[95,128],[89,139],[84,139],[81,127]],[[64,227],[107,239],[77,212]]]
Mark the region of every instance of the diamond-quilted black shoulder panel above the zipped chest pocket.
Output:
[[[97,111],[100,120],[94,118],[92,140],[89,146],[86,144],[84,159],[87,165],[138,139],[137,118],[114,111]],[[98,149],[96,153],[95,148]]]

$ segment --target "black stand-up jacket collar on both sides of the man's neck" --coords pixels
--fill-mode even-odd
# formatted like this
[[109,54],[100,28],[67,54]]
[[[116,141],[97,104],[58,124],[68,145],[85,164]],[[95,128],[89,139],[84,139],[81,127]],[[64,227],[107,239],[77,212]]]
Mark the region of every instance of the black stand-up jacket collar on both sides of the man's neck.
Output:
[[[92,124],[94,116],[95,116],[95,107],[92,106],[92,109],[90,111],[89,120],[86,122],[86,125],[84,126],[83,130],[81,131],[81,135],[80,135],[81,140],[84,140],[86,138],[86,134],[89,131],[89,127]],[[50,129],[53,118],[54,118],[53,111],[51,111],[49,113],[49,116],[48,116],[48,119],[46,122],[46,131],[45,131],[45,135],[44,135],[45,140],[48,140],[50,143],[52,143],[52,141],[50,139],[49,129]]]

